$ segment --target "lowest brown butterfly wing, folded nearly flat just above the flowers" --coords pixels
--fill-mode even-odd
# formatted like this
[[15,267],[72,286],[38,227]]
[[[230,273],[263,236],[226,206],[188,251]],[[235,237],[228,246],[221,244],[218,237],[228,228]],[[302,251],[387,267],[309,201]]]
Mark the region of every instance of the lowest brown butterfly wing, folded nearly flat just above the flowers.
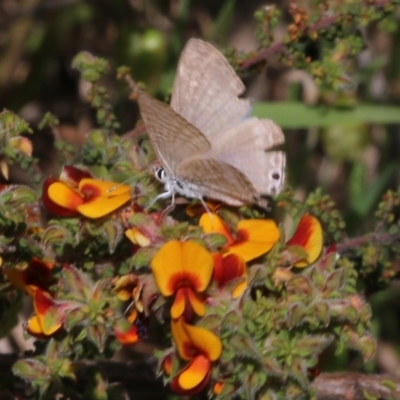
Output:
[[233,206],[262,203],[246,176],[223,161],[191,158],[178,165],[176,176],[187,182],[199,197],[210,197]]

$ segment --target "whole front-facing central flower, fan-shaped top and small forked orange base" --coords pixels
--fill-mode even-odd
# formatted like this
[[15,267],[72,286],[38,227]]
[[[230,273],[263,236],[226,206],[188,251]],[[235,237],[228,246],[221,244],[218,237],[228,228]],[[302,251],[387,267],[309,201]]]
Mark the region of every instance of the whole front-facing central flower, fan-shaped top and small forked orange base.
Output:
[[205,306],[199,294],[210,283],[213,273],[213,258],[199,244],[188,240],[173,240],[164,244],[151,262],[154,279],[163,296],[175,295],[171,316],[176,319],[193,312],[205,314]]

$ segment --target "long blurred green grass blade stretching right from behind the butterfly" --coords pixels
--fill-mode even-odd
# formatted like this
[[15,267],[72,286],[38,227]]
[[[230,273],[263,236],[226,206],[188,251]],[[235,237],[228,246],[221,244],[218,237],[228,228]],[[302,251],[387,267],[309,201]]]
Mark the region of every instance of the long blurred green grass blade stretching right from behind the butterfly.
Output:
[[254,104],[253,114],[270,118],[281,128],[330,127],[341,124],[400,122],[400,107],[360,104],[354,108],[309,106],[301,102]]

